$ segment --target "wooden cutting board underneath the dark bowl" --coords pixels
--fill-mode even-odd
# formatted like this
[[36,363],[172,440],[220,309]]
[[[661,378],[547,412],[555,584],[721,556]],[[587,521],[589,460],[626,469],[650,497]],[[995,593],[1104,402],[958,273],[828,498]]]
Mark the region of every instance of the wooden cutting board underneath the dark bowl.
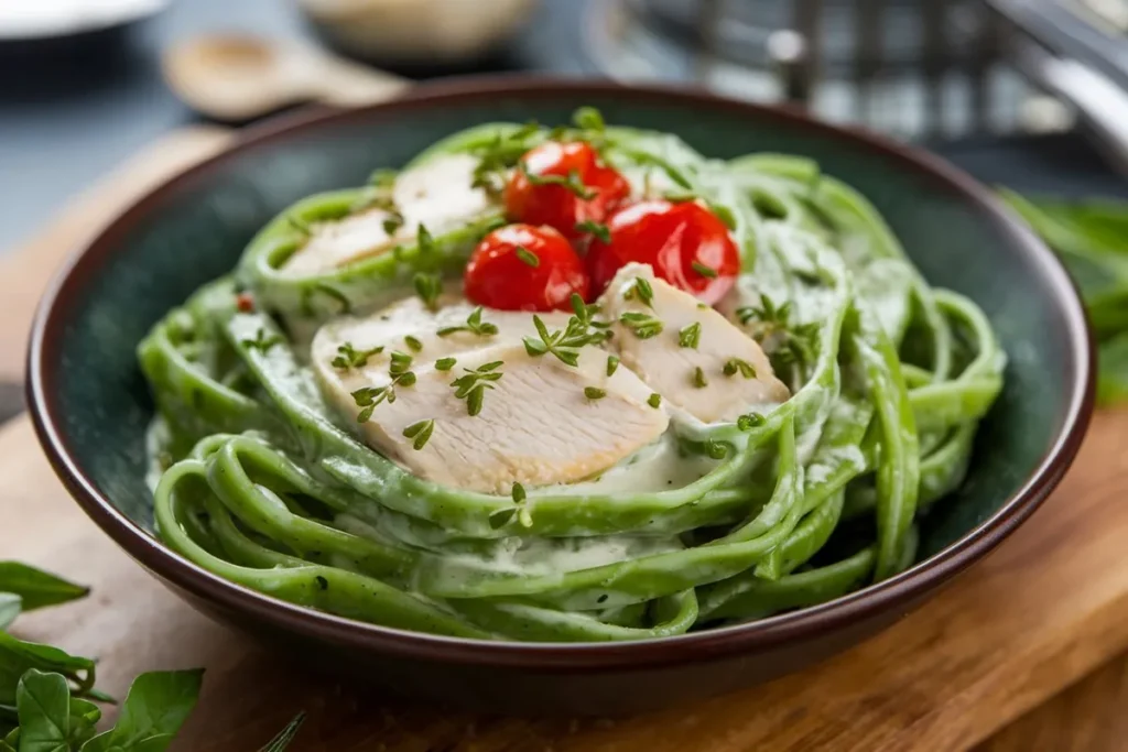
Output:
[[[0,300],[34,301],[92,225],[161,169],[228,138],[211,129],[176,133],[86,194],[45,239],[0,259]],[[8,319],[0,378],[18,378],[29,312]],[[53,477],[26,418],[0,430],[0,557],[94,587],[85,601],[21,618],[16,632],[99,657],[100,683],[117,695],[141,671],[204,666],[201,704],[176,750],[255,750],[299,710],[309,720],[293,752],[969,749],[1128,649],[1126,497],[1128,412],[1104,413],[1030,522],[870,642],[770,684],[664,713],[530,722],[389,705],[263,653],[195,613],[103,536]]]

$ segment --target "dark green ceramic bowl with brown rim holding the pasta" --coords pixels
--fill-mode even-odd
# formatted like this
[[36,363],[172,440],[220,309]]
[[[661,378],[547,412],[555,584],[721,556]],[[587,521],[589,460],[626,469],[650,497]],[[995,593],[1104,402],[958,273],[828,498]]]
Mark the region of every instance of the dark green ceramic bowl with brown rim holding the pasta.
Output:
[[[672,131],[713,157],[784,151],[862,191],[934,284],[973,298],[1010,355],[963,486],[923,523],[909,570],[830,603],[754,623],[634,644],[482,643],[307,610],[233,585],[152,534],[143,483],[152,413],[134,346],[168,308],[227,272],[291,202],[361,184],[485,121],[613,123]],[[203,611],[397,693],[515,713],[623,713],[760,682],[827,657],[907,613],[1015,530],[1057,485],[1092,402],[1085,316],[1052,254],[979,184],[919,151],[779,109],[668,88],[510,80],[424,88],[391,104],[253,132],[169,180],[106,228],[47,293],[28,398],[59,476],[103,530]]]

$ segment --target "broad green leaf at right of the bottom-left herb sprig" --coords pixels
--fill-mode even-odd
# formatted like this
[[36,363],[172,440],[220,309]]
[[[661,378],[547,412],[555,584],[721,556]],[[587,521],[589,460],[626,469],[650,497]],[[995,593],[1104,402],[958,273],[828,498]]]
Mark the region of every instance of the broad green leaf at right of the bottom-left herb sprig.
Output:
[[117,725],[82,745],[81,752],[164,752],[200,696],[203,669],[153,671],[133,680]]

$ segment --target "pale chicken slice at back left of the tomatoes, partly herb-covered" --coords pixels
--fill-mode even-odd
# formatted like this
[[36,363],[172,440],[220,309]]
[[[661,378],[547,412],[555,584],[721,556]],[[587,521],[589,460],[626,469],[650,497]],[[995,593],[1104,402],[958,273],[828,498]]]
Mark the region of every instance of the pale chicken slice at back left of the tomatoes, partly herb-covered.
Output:
[[299,276],[331,271],[412,242],[421,224],[431,235],[442,235],[483,215],[490,209],[490,197],[472,186],[477,165],[470,154],[451,154],[403,172],[391,189],[393,203],[404,220],[394,232],[389,235],[385,228],[391,218],[385,209],[315,222],[309,239],[285,260],[282,271]]

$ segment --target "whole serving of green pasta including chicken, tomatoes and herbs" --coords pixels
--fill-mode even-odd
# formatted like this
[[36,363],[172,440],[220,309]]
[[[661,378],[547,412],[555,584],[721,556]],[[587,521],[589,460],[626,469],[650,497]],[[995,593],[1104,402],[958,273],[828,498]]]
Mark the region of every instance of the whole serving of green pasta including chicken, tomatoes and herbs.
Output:
[[540,642],[904,570],[1005,361],[816,163],[590,109],[298,202],[139,357],[180,555],[351,619]]

